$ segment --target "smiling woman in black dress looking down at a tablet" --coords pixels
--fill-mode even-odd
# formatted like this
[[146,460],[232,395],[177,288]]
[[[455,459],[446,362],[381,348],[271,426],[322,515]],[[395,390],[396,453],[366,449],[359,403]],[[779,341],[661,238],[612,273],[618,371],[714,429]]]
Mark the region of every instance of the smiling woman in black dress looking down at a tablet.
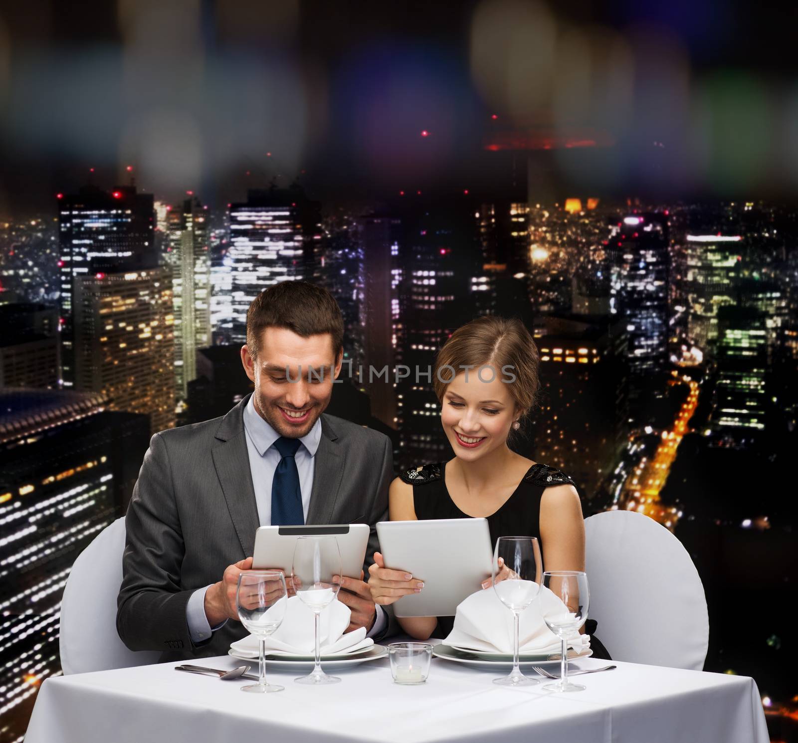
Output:
[[[523,323],[490,316],[458,328],[437,355],[433,379],[440,422],[455,456],[393,480],[390,519],[485,518],[494,542],[500,536],[535,536],[546,570],[583,571],[585,535],[574,481],[508,446],[539,386],[538,350]],[[369,573],[375,603],[424,590],[424,583],[404,571],[386,569],[379,553]],[[451,617],[398,621],[419,639],[433,632],[443,638],[452,630]],[[594,645],[594,654],[606,657],[600,643]]]

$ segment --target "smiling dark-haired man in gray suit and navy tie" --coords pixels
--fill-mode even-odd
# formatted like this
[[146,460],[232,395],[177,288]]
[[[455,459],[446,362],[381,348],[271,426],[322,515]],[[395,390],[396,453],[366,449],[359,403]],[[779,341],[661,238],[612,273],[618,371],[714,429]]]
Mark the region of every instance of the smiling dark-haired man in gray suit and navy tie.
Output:
[[[226,654],[239,573],[267,524],[367,523],[366,565],[387,519],[388,437],[324,414],[342,365],[333,296],[305,282],[263,291],[247,312],[241,358],[255,391],[227,415],[156,433],[126,517],[117,631],[162,661]],[[385,634],[363,575],[342,579],[349,630]],[[232,621],[231,621],[232,620]]]

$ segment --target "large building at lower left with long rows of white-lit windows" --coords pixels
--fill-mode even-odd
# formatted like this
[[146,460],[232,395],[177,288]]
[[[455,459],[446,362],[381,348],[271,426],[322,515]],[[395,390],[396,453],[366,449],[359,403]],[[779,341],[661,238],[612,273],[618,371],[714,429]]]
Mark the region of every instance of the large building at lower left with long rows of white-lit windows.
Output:
[[22,739],[61,674],[61,595],[77,555],[121,516],[147,449],[144,416],[74,391],[0,390],[0,719]]

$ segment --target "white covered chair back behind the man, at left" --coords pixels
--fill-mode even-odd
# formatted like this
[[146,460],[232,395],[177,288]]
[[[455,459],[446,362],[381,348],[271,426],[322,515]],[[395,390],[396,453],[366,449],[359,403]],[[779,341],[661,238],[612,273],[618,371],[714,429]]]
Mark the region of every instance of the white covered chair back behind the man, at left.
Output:
[[158,650],[128,650],[117,634],[123,552],[124,516],[105,527],[72,566],[61,599],[59,645],[64,674],[158,662]]

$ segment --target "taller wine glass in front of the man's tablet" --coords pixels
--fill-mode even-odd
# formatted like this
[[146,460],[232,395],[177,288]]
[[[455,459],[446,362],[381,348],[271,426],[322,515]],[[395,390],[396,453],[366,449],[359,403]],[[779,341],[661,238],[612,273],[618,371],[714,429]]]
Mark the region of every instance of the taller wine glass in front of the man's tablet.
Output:
[[336,684],[338,676],[328,676],[322,670],[322,654],[319,648],[318,624],[324,607],[338,597],[340,584],[334,576],[343,575],[338,539],[334,536],[300,536],[294,547],[294,562],[291,580],[294,591],[314,613],[315,654],[313,670],[307,676],[294,679],[298,684]]

